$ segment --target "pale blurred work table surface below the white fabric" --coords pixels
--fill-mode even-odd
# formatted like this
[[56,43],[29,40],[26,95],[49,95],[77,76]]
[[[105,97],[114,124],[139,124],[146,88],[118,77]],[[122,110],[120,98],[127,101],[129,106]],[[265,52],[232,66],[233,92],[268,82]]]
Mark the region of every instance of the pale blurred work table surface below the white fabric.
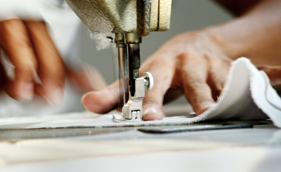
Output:
[[[251,122],[253,128],[166,134],[138,131],[147,127],[1,130],[0,169],[279,171],[281,130],[268,120]],[[149,128],[159,127],[173,126]]]

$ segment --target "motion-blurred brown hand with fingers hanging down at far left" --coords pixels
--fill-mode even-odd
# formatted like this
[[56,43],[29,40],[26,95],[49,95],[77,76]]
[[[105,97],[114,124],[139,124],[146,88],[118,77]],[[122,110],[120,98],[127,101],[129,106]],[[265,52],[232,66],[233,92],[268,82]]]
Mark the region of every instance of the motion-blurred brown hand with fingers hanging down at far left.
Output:
[[[1,21],[0,46],[15,67],[14,76],[7,77],[0,67],[9,96],[30,101],[38,94],[52,104],[62,101],[66,70],[44,22]],[[37,74],[40,81],[35,82]]]

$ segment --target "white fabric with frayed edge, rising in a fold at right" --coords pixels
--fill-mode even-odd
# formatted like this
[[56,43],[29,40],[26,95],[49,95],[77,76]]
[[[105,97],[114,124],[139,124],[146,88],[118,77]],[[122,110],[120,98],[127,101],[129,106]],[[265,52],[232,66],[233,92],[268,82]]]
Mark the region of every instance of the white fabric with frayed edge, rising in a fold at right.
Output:
[[[114,122],[112,114],[83,115],[69,114],[64,118],[40,118],[13,124],[1,122],[0,128],[68,128],[68,127],[120,127],[181,125],[211,119],[257,120],[270,118],[274,125],[281,128],[281,99],[271,87],[267,75],[259,71],[249,59],[233,61],[228,80],[215,106],[196,117],[174,116],[157,121]],[[38,117],[37,117],[38,118]]]

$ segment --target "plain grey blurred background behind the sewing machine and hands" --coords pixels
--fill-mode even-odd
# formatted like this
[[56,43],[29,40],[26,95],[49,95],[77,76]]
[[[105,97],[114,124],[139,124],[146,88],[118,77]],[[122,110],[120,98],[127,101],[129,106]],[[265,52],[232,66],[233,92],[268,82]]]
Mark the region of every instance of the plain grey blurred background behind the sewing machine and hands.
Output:
[[[232,18],[234,16],[231,13],[212,0],[173,0],[170,29],[165,32],[150,32],[148,37],[142,38],[140,44],[141,62],[178,33],[200,30]],[[88,28],[83,23],[80,25],[78,34],[78,55],[83,61],[100,70],[108,84],[114,82],[117,75],[112,48],[97,51],[95,40],[90,38]],[[172,104],[184,103],[186,100],[183,96],[172,102]]]

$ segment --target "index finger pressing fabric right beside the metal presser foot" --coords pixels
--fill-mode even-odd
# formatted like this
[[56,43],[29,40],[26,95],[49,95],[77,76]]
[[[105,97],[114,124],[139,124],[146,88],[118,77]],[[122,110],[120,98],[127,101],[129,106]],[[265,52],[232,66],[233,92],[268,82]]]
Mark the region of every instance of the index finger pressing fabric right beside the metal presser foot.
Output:
[[157,58],[149,65],[142,66],[140,71],[141,74],[149,71],[154,78],[153,89],[145,92],[142,118],[145,121],[162,119],[165,116],[163,99],[174,76],[174,63],[169,58]]

